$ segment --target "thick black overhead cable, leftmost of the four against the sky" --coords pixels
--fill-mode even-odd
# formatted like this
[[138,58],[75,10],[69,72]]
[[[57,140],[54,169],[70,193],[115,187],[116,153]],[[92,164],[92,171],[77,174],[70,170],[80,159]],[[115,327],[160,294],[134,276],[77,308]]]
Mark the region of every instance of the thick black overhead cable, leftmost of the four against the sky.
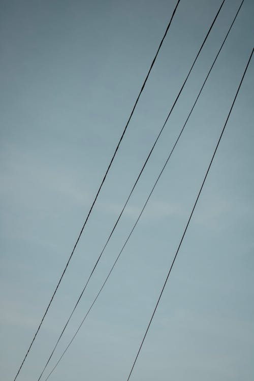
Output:
[[52,300],[53,300],[53,298],[54,298],[54,296],[55,296],[55,293],[56,293],[56,291],[57,291],[57,289],[58,289],[58,287],[59,287],[59,284],[60,284],[60,282],[61,282],[61,280],[62,280],[62,277],[63,277],[63,275],[65,274],[66,269],[67,269],[67,267],[68,267],[68,265],[69,265],[69,263],[70,263],[70,260],[71,260],[71,258],[72,258],[72,256],[73,256],[73,253],[74,253],[74,251],[75,251],[75,248],[76,248],[76,246],[77,246],[77,244],[78,244],[78,241],[79,241],[79,239],[80,239],[80,237],[81,237],[81,234],[82,234],[82,232],[83,232],[83,230],[84,230],[84,227],[85,227],[85,225],[86,225],[86,222],[87,222],[87,220],[88,220],[88,218],[89,218],[89,215],[90,215],[90,213],[91,213],[91,211],[92,211],[92,208],[93,208],[94,204],[96,203],[96,200],[97,200],[97,198],[98,198],[98,196],[99,196],[99,193],[100,193],[100,191],[101,191],[102,185],[103,185],[103,183],[104,183],[104,181],[105,181],[105,179],[106,179],[106,176],[107,176],[107,174],[108,174],[108,172],[109,172],[109,169],[110,169],[110,167],[111,167],[111,165],[112,165],[112,162],[113,162],[113,160],[114,160],[114,158],[115,158],[116,152],[118,151],[118,148],[119,148],[119,146],[120,146],[120,143],[121,143],[121,141],[122,141],[122,138],[123,138],[123,136],[124,136],[124,134],[125,134],[125,132],[126,132],[126,129],[128,128],[129,122],[130,122],[130,120],[131,120],[131,118],[132,118],[132,115],[133,115],[133,113],[134,113],[134,110],[135,110],[135,108],[136,108],[136,106],[137,106],[137,103],[138,103],[138,101],[139,101],[139,98],[140,98],[140,96],[141,96],[141,93],[142,93],[142,91],[143,91],[143,89],[144,89],[144,87],[145,87],[146,81],[147,81],[147,79],[148,79],[148,77],[149,77],[149,75],[150,75],[150,72],[151,72],[151,70],[152,70],[152,67],[153,67],[153,65],[154,65],[154,62],[155,62],[155,60],[156,60],[156,58],[157,58],[158,52],[160,51],[161,46],[162,46],[162,44],[163,44],[163,41],[164,41],[164,39],[165,39],[165,37],[166,37],[166,35],[167,35],[167,33],[168,33],[169,27],[170,27],[170,25],[171,25],[171,22],[172,22],[172,20],[173,20],[173,17],[174,17],[174,15],[175,15],[175,12],[176,12],[176,9],[177,9],[179,3],[180,3],[180,0],[177,1],[177,4],[176,4],[176,6],[175,6],[175,9],[174,9],[174,11],[173,11],[173,13],[172,13],[170,22],[169,22],[169,24],[168,24],[168,26],[167,26],[167,29],[166,29],[166,31],[165,31],[165,34],[164,34],[162,40],[161,40],[161,43],[160,43],[160,45],[159,45],[159,47],[158,47],[158,49],[157,49],[157,51],[156,51],[156,54],[155,54],[155,56],[154,56],[154,58],[153,58],[153,60],[152,60],[150,69],[149,69],[149,71],[148,71],[148,73],[147,73],[147,75],[146,75],[145,81],[144,81],[144,83],[143,83],[143,85],[142,85],[142,87],[141,87],[141,90],[140,90],[140,92],[139,92],[138,98],[137,98],[137,100],[136,100],[136,102],[135,102],[135,104],[134,104],[134,107],[133,107],[133,109],[132,109],[131,115],[130,115],[130,117],[129,117],[129,119],[128,119],[126,125],[125,125],[125,128],[124,128],[124,130],[123,130],[123,133],[122,133],[122,135],[121,135],[121,137],[120,137],[120,140],[119,140],[119,142],[118,142],[118,144],[117,144],[117,146],[116,146],[115,152],[114,152],[114,154],[113,154],[113,156],[112,156],[112,158],[111,158],[111,161],[110,161],[110,163],[109,163],[108,169],[107,169],[107,171],[106,171],[106,173],[105,173],[105,175],[104,175],[104,177],[103,177],[103,180],[102,180],[102,182],[101,182],[101,185],[100,185],[100,187],[99,187],[99,190],[98,190],[98,192],[97,192],[97,195],[96,195],[96,197],[94,198],[93,203],[92,203],[92,205],[91,205],[91,207],[90,207],[90,210],[89,210],[89,212],[88,212],[88,214],[87,214],[87,217],[86,217],[86,219],[85,219],[85,222],[84,222],[84,224],[83,224],[83,227],[82,227],[82,229],[81,229],[81,232],[80,232],[80,234],[79,234],[79,236],[78,236],[78,239],[77,239],[77,241],[76,241],[76,243],[75,243],[75,245],[74,245],[74,248],[73,248],[73,250],[72,250],[71,256],[69,257],[68,262],[67,262],[67,264],[66,264],[66,267],[65,267],[65,269],[63,270],[63,272],[62,272],[62,274],[61,274],[61,277],[60,277],[60,279],[59,279],[59,281],[58,281],[58,283],[57,283],[57,285],[56,285],[55,291],[54,291],[54,293],[53,293],[53,295],[52,295],[52,297],[51,297],[51,299],[50,299],[50,302],[49,302],[49,304],[48,304],[48,306],[47,306],[47,308],[46,308],[46,311],[45,311],[45,313],[44,313],[44,315],[43,315],[43,317],[42,317],[41,323],[39,324],[39,327],[38,327],[38,329],[37,329],[37,331],[36,331],[36,333],[35,333],[35,335],[34,335],[34,338],[33,338],[33,340],[31,341],[31,343],[30,343],[30,345],[29,345],[29,348],[28,348],[28,350],[27,350],[27,352],[26,352],[26,355],[25,355],[25,357],[24,357],[24,359],[23,359],[23,361],[22,361],[22,363],[21,363],[21,365],[20,365],[20,367],[19,367],[19,370],[18,370],[18,372],[17,372],[17,374],[16,374],[16,376],[15,376],[15,378],[14,378],[14,381],[16,380],[16,378],[17,378],[17,376],[18,376],[18,374],[19,374],[19,372],[20,372],[20,369],[22,368],[22,366],[23,366],[23,364],[24,364],[24,362],[25,362],[25,359],[26,359],[26,357],[27,357],[27,355],[28,355],[28,353],[29,353],[29,351],[30,351],[30,348],[31,348],[31,346],[33,345],[33,343],[34,343],[34,341],[35,341],[35,338],[36,338],[36,336],[37,336],[37,334],[38,334],[38,332],[39,332],[39,330],[40,330],[40,328],[41,328],[41,325],[42,325],[42,323],[43,323],[43,321],[44,321],[44,318],[45,318],[45,316],[46,316],[46,314],[47,314],[47,312],[48,312],[48,309],[49,309],[49,307],[50,307],[50,305],[51,305],[51,302],[52,302]]

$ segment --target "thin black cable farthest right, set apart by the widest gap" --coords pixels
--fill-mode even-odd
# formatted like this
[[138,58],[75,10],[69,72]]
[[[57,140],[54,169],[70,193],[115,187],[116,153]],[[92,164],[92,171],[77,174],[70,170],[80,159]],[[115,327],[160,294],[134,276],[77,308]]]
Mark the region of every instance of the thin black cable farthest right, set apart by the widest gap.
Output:
[[157,300],[157,303],[156,303],[156,305],[155,305],[155,308],[154,308],[154,310],[153,310],[151,319],[150,319],[150,321],[149,321],[149,324],[148,324],[148,326],[147,326],[146,332],[145,332],[144,337],[143,337],[143,339],[142,339],[142,342],[141,342],[141,344],[140,344],[140,347],[139,347],[137,356],[136,356],[136,358],[135,358],[135,361],[134,361],[134,363],[133,363],[133,366],[132,366],[131,372],[130,372],[130,374],[129,374],[129,377],[127,378],[127,381],[129,381],[129,379],[130,379],[130,377],[131,377],[133,368],[134,368],[134,366],[135,366],[135,364],[136,364],[137,358],[138,358],[139,353],[140,353],[140,351],[141,351],[141,348],[142,348],[143,342],[144,342],[144,340],[145,340],[146,334],[147,334],[147,332],[148,332],[148,330],[149,330],[149,327],[150,327],[150,325],[151,325],[151,322],[152,322],[154,313],[155,313],[155,311],[156,311],[156,309],[157,309],[158,303],[160,302],[160,299],[161,299],[161,297],[162,297],[163,291],[164,291],[165,286],[166,286],[166,283],[167,283],[167,281],[168,281],[170,272],[171,272],[172,267],[173,267],[173,265],[174,265],[174,262],[175,262],[175,260],[176,260],[176,257],[177,257],[178,251],[179,251],[179,249],[180,249],[180,246],[181,246],[181,244],[182,244],[182,241],[183,241],[184,235],[185,235],[185,233],[186,233],[186,230],[187,230],[187,228],[188,228],[189,221],[190,221],[190,219],[192,218],[192,215],[193,215],[193,212],[194,212],[195,207],[196,207],[196,205],[197,205],[199,196],[200,196],[200,194],[201,194],[201,192],[202,192],[202,188],[203,188],[203,186],[204,186],[204,183],[205,183],[205,180],[206,180],[206,178],[207,178],[208,172],[209,172],[210,167],[211,167],[211,165],[212,165],[213,158],[214,158],[215,153],[216,153],[216,151],[217,151],[217,148],[218,148],[219,142],[220,142],[220,140],[221,140],[221,137],[223,136],[223,133],[224,133],[224,130],[225,130],[225,128],[226,128],[227,122],[228,122],[228,120],[229,120],[231,111],[232,111],[232,109],[233,109],[233,107],[234,107],[234,104],[235,104],[235,100],[236,100],[237,94],[238,94],[238,92],[239,92],[239,89],[240,89],[240,87],[241,87],[243,78],[244,78],[245,73],[246,73],[246,71],[247,71],[247,68],[248,68],[248,65],[249,65],[251,56],[252,56],[252,54],[253,54],[253,50],[254,50],[254,49],[252,49],[252,52],[251,52],[250,57],[249,57],[249,59],[248,59],[248,62],[247,62],[246,68],[245,68],[245,70],[244,70],[244,73],[243,73],[241,82],[240,82],[240,84],[239,84],[239,86],[238,86],[238,89],[237,89],[237,92],[236,92],[236,95],[235,95],[234,101],[233,101],[233,103],[232,103],[232,106],[231,106],[231,108],[230,108],[230,111],[229,111],[229,114],[228,114],[228,116],[227,116],[226,122],[225,122],[225,124],[224,124],[224,128],[223,128],[223,130],[221,131],[221,134],[220,134],[219,140],[218,140],[218,142],[217,142],[216,148],[215,148],[215,150],[214,150],[214,152],[213,152],[213,155],[212,155],[212,158],[211,158],[209,167],[208,167],[208,169],[207,169],[207,171],[206,171],[206,175],[205,175],[205,177],[204,177],[204,180],[203,180],[203,182],[202,182],[201,188],[200,188],[200,190],[199,190],[199,194],[198,194],[197,199],[196,199],[196,201],[195,201],[195,204],[194,204],[194,206],[193,206],[192,212],[190,213],[190,216],[189,216],[187,225],[186,225],[186,227],[185,227],[185,229],[184,229],[184,232],[183,232],[182,238],[181,238],[181,240],[180,240],[179,246],[178,246],[178,248],[177,248],[177,250],[176,250],[175,257],[174,257],[174,259],[173,259],[173,262],[172,262],[171,267],[170,267],[170,269],[169,269],[168,275],[167,275],[166,280],[165,280],[165,282],[164,282],[164,285],[163,285],[161,294],[160,294],[160,296],[159,296],[159,298],[158,298],[158,300]]

